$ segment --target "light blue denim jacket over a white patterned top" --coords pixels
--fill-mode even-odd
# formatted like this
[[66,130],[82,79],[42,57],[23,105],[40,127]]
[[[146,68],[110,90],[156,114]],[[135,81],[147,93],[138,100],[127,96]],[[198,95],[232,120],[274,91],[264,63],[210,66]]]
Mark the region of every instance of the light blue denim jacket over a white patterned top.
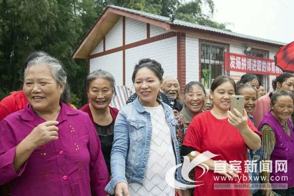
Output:
[[[171,129],[173,151],[176,164],[180,164],[178,141],[175,134],[175,124],[172,108],[157,99],[162,105],[166,120]],[[119,112],[114,125],[114,142],[111,150],[112,179],[105,188],[110,194],[114,194],[115,186],[119,182],[143,182],[149,159],[149,150],[152,135],[152,123],[150,113],[136,98],[133,102],[124,106]],[[175,173],[175,179],[181,180],[181,170]]]

